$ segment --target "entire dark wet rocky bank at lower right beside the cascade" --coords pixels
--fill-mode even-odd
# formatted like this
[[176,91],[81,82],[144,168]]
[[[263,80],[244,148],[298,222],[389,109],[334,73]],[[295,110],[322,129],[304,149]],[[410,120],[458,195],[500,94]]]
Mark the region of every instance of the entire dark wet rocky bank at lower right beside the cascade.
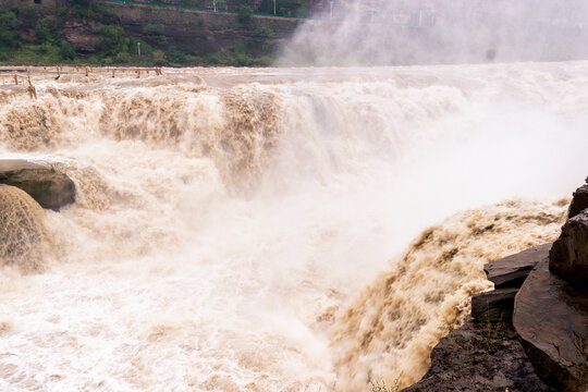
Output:
[[495,290],[471,298],[473,319],[403,391],[588,392],[588,184],[574,193],[558,241],[485,271]]

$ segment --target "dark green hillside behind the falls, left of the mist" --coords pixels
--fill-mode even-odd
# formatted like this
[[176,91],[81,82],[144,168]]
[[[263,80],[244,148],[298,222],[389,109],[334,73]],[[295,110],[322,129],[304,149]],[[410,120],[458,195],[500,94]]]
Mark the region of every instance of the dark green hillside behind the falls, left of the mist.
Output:
[[0,5],[2,64],[262,66],[298,24],[245,5],[231,12],[84,0]]

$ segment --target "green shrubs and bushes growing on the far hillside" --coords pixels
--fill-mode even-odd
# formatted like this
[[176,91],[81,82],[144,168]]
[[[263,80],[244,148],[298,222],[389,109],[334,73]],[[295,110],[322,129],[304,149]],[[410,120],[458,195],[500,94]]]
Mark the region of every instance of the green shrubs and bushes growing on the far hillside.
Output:
[[[99,2],[68,1],[68,7],[59,9],[27,4],[0,10],[0,63],[264,66],[271,64],[272,53],[278,49],[275,33],[269,25],[253,20],[254,12],[249,5],[242,5],[234,25],[225,27],[246,30],[247,38],[236,39],[234,44],[218,49],[195,48],[199,51],[186,52],[174,45],[173,36],[166,32],[169,27],[164,24],[151,22],[139,32],[130,33],[121,26],[119,17]],[[285,1],[284,4],[291,2]],[[182,3],[205,5],[199,0],[184,0]],[[304,1],[299,3],[304,4]],[[225,7],[225,2],[217,0],[217,8],[221,7]],[[200,29],[203,33],[198,34],[205,34],[210,28],[209,23],[222,26],[226,21],[230,20],[209,22],[195,14],[194,22],[182,28]],[[72,33],[68,33],[66,26],[72,25],[90,30],[91,40],[82,40],[82,44],[70,40]]]

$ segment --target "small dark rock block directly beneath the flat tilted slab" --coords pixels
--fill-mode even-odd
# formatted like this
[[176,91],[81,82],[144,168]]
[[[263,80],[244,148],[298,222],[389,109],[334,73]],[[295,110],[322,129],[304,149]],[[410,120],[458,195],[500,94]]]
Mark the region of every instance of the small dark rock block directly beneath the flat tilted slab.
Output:
[[498,289],[471,297],[471,317],[478,322],[511,323],[518,289]]

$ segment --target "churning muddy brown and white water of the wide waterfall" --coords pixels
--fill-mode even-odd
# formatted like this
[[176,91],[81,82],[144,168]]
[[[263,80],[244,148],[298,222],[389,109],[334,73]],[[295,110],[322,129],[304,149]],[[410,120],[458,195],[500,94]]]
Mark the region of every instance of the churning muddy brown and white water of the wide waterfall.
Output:
[[586,75],[184,69],[47,74],[36,100],[3,87],[1,156],[50,162],[77,200],[0,200],[34,217],[0,250],[0,390],[418,380],[491,287],[483,264],[556,237],[586,171]]

